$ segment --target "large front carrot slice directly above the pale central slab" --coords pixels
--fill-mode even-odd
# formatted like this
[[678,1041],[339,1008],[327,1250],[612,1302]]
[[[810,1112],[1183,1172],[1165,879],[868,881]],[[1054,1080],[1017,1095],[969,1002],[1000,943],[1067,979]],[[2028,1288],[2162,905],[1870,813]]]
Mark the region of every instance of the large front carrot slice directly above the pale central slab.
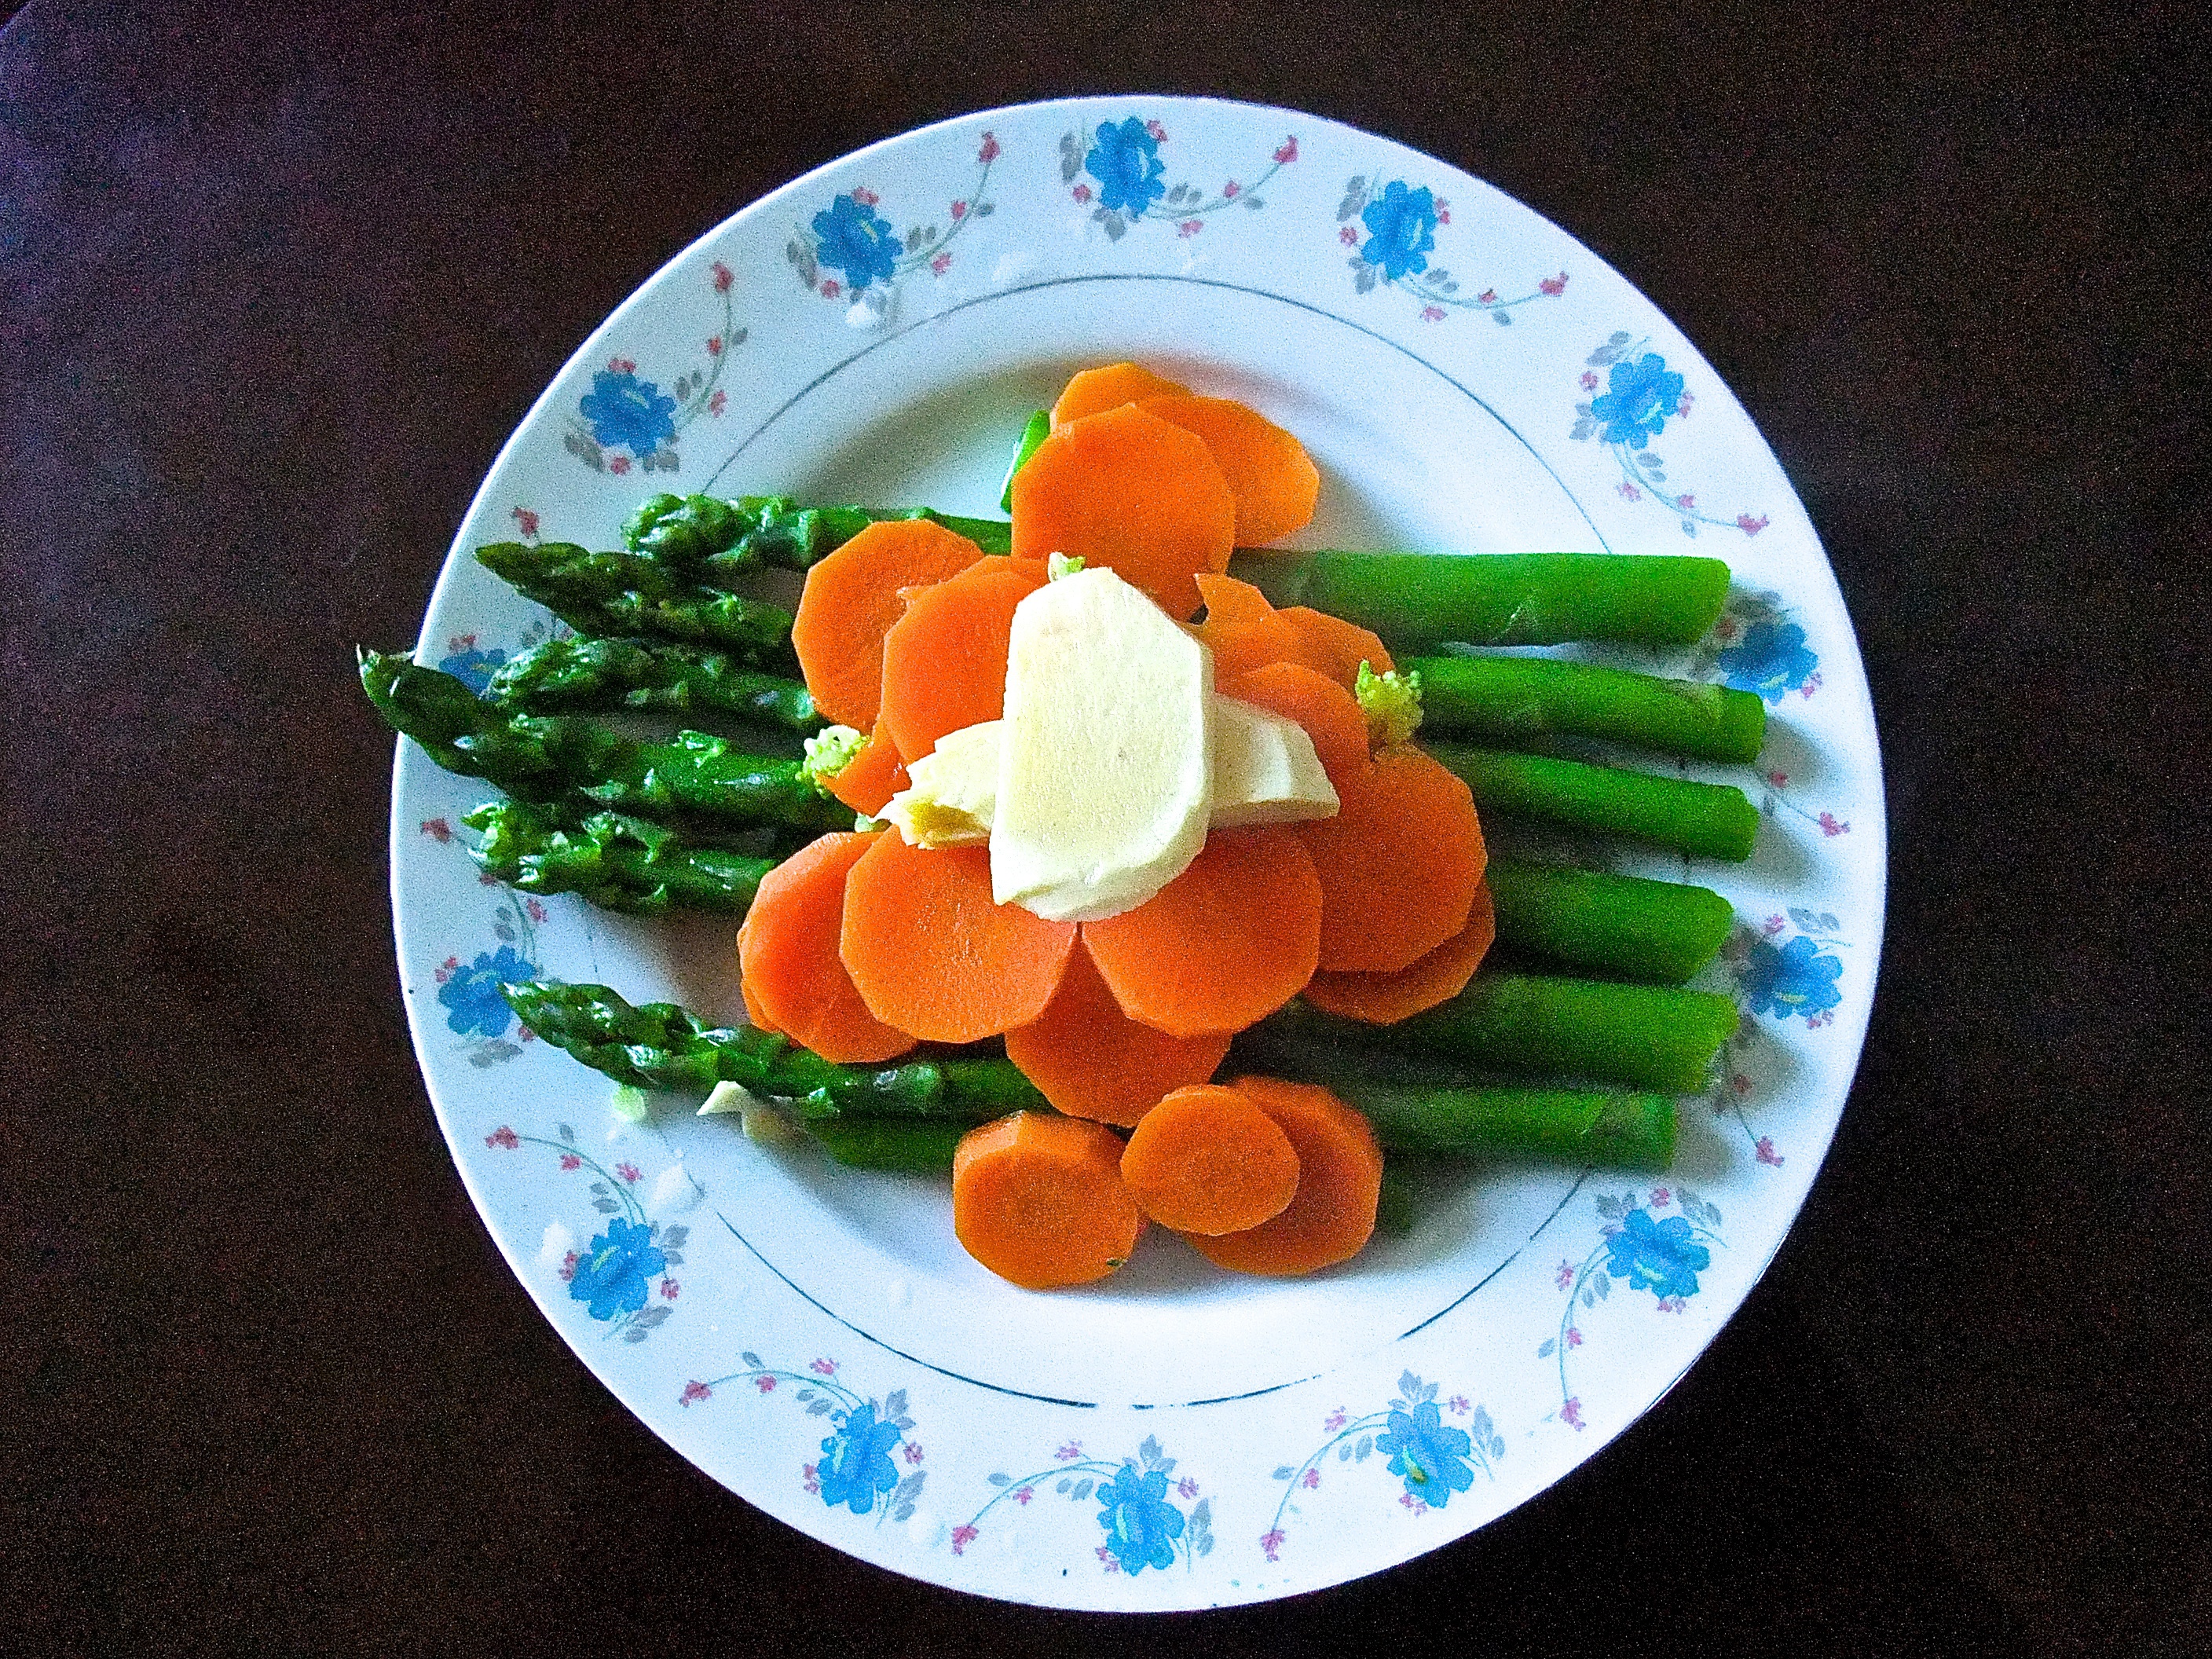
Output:
[[1177,622],[1199,571],[1228,568],[1237,498],[1206,440],[1119,407],[1055,427],[1013,476],[1013,555],[1079,555],[1133,582]]

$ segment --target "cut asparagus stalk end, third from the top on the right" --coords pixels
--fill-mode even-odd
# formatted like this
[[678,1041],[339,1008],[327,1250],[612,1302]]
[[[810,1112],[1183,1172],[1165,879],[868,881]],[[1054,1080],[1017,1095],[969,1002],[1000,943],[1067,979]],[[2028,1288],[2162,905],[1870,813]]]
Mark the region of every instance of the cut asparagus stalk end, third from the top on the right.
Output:
[[1692,783],[1617,765],[1506,754],[1460,743],[1427,748],[1467,781],[1482,812],[1546,818],[1732,863],[1752,856],[1752,841],[1759,834],[1759,807],[1732,783]]

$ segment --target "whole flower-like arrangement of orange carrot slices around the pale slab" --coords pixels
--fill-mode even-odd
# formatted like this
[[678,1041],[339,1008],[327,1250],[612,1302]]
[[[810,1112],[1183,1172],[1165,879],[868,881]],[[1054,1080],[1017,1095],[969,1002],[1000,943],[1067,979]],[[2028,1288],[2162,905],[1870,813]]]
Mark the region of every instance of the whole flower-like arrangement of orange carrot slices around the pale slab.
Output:
[[995,905],[987,847],[898,832],[823,836],[761,883],[739,931],[754,1024],[847,1064],[1004,1037],[1062,1113],[989,1124],[956,1161],[953,1228],[1018,1285],[1110,1272],[1148,1219],[1239,1272],[1352,1256],[1383,1168],[1367,1121],[1321,1088],[1210,1079],[1294,995],[1389,1024],[1458,995],[1489,949],[1467,785],[1411,743],[1376,750],[1354,697],[1360,664],[1391,668],[1383,641],[1225,575],[1232,549],[1303,529],[1316,491],[1274,422],[1117,363],[1068,383],[1015,473],[1013,557],[894,520],[807,573],[792,641],[816,706],[872,732],[834,781],[860,814],[938,739],[1002,714],[1013,611],[1048,553],[1179,622],[1203,606],[1217,690],[1296,721],[1343,803],[1217,830],[1144,905],[1082,925]]

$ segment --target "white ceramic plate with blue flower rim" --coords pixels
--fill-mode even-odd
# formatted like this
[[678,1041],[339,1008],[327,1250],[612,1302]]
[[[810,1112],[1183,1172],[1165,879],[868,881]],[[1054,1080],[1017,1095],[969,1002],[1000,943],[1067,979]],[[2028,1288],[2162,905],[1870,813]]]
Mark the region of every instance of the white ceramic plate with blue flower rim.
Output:
[[[1033,104],[876,144],[752,204],[630,296],[484,480],[420,653],[482,677],[546,615],[469,557],[615,546],[664,487],[995,511],[1075,367],[1256,405],[1323,473],[1307,546],[1697,551],[1694,650],[1767,697],[1728,894],[1743,1000],[1666,1179],[1489,1168],[1303,1283],[1168,1237],[1037,1296],[971,1263],[942,1186],[750,1144],[611,1086],[493,987],[613,984],[734,1020],[730,929],[482,885],[484,790],[400,745],[392,896],[422,1077],[502,1252],[677,1451],[803,1533],[980,1595],[1161,1610],[1312,1590],[1460,1537],[1646,1411],[1790,1228],[1851,1079],[1882,929],[1867,686],[1787,478],[1697,349],[1586,248],[1431,157],[1292,111]],[[1409,1469],[1427,1469],[1416,1482]],[[1427,1493],[1427,1498],[1418,1495]],[[1117,1522],[1117,1524],[1115,1524]],[[1117,1540],[1117,1542],[1110,1542]],[[1133,1542],[1135,1540],[1135,1542]]]

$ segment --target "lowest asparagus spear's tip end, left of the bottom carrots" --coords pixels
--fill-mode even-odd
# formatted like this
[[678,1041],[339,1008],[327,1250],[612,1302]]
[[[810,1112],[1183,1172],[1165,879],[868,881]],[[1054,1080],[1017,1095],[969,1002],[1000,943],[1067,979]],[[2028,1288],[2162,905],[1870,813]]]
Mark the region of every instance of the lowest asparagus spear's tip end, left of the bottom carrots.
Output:
[[500,995],[533,1033],[593,1071],[637,1088],[706,1091],[717,1082],[799,1102],[810,1121],[836,1117],[936,1117],[982,1124],[1046,1110],[1044,1095],[1011,1060],[907,1060],[838,1066],[790,1037],[754,1026],[708,1026],[672,1002],[624,1002],[604,984],[531,980]]

